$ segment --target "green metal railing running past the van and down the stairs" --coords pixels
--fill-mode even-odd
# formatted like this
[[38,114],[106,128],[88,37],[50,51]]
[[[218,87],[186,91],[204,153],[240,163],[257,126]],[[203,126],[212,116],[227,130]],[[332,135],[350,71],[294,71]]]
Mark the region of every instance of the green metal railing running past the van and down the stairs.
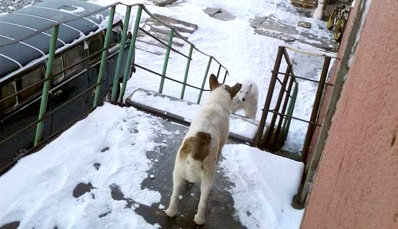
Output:
[[[160,20],[159,18],[157,18],[156,16],[154,16],[151,12],[149,12],[146,9],[146,7],[143,4],[127,5],[127,4],[122,4],[122,3],[114,3],[112,5],[100,8],[98,10],[95,10],[93,12],[90,12],[90,13],[87,13],[87,14],[84,14],[84,15],[81,15],[81,16],[74,17],[72,19],[58,21],[56,23],[50,24],[48,26],[45,26],[41,30],[37,30],[36,32],[34,32],[34,33],[32,33],[32,34],[30,34],[28,36],[24,36],[22,38],[15,39],[15,40],[0,44],[0,47],[11,45],[11,44],[14,44],[14,43],[29,39],[29,38],[31,38],[31,37],[33,37],[33,36],[35,36],[37,34],[40,34],[41,32],[44,32],[44,31],[46,31],[46,30],[48,30],[50,28],[52,28],[52,30],[53,30],[52,37],[51,37],[51,42],[49,44],[49,51],[48,51],[48,54],[45,56],[47,62],[46,62],[46,71],[45,71],[44,79],[42,79],[42,80],[40,80],[40,81],[38,81],[38,82],[36,82],[36,83],[34,83],[32,85],[29,85],[29,87],[24,88],[24,89],[22,89],[20,91],[17,91],[16,93],[13,93],[12,95],[9,95],[9,96],[7,96],[7,97],[5,97],[3,99],[0,99],[0,105],[2,105],[3,102],[5,102],[6,100],[8,100],[8,99],[10,99],[12,97],[18,96],[19,94],[21,94],[23,92],[26,92],[26,91],[34,88],[34,87],[37,87],[38,85],[41,86],[41,84],[42,84],[43,85],[43,89],[42,89],[42,92],[41,92],[41,102],[40,102],[40,109],[39,109],[38,119],[35,122],[32,122],[32,123],[28,124],[27,126],[21,128],[20,130],[15,131],[14,133],[11,133],[5,139],[0,140],[0,146],[2,144],[5,144],[5,142],[10,140],[11,138],[16,137],[21,132],[27,130],[28,128],[31,128],[32,126],[37,125],[36,126],[36,132],[35,132],[35,134],[33,136],[34,137],[34,147],[28,150],[28,152],[26,153],[26,155],[28,155],[28,154],[34,152],[34,150],[36,150],[38,147],[40,147],[40,145],[43,144],[43,142],[47,141],[48,139],[53,138],[54,136],[59,134],[62,130],[64,130],[65,128],[69,127],[74,122],[78,121],[79,119],[81,119],[82,117],[87,115],[89,112],[91,112],[93,109],[95,109],[98,105],[103,103],[103,101],[98,101],[98,100],[100,98],[100,93],[101,93],[101,84],[106,80],[106,79],[103,79],[103,78],[104,78],[105,68],[106,68],[106,65],[107,65],[107,55],[108,55],[108,48],[109,48],[110,33],[111,33],[111,30],[112,30],[112,26],[113,26],[113,18],[114,18],[114,15],[115,15],[115,8],[116,8],[117,5],[126,6],[127,7],[127,11],[126,11],[126,16],[125,16],[122,32],[121,32],[120,45],[119,45],[119,50],[118,50],[119,53],[118,53],[118,56],[117,56],[117,62],[116,62],[116,67],[115,67],[115,77],[114,77],[112,91],[111,91],[111,93],[112,93],[111,94],[111,101],[112,102],[116,102],[116,99],[117,99],[117,101],[119,103],[122,102],[122,98],[123,98],[123,95],[125,94],[125,90],[126,90],[127,80],[129,78],[129,68],[132,65],[134,65],[137,68],[146,70],[146,71],[148,71],[150,73],[153,73],[154,75],[161,76],[160,87],[159,87],[159,92],[160,93],[162,92],[163,87],[164,87],[164,79],[169,79],[169,80],[172,80],[172,81],[175,81],[175,82],[178,82],[178,83],[182,84],[181,97],[180,97],[181,99],[184,98],[184,93],[185,93],[185,87],[186,86],[194,88],[194,89],[197,89],[197,90],[200,90],[200,94],[198,96],[197,103],[200,103],[201,97],[202,97],[202,93],[204,91],[209,91],[209,90],[205,90],[204,86],[205,86],[205,82],[206,82],[206,79],[207,79],[207,75],[208,75],[212,60],[214,60],[219,65],[218,72],[217,72],[217,78],[218,78],[218,75],[220,73],[220,69],[221,68],[225,69],[225,76],[223,78],[223,82],[225,82],[226,77],[227,77],[227,75],[229,73],[228,73],[228,70],[224,66],[222,66],[213,56],[208,55],[208,54],[204,53],[203,51],[201,51],[200,49],[196,48],[194,44],[189,42],[178,31],[176,31],[176,28],[174,28],[172,25],[169,25],[169,24],[163,22],[162,20]],[[119,97],[116,98],[117,97],[117,84],[119,83],[118,75],[119,75],[119,72],[121,71],[122,56],[123,56],[123,52],[125,51],[125,48],[126,48],[126,45],[121,45],[121,44],[128,44],[128,42],[129,42],[128,39],[127,39],[127,37],[128,37],[128,25],[129,25],[129,20],[130,20],[130,16],[131,16],[131,9],[132,9],[132,7],[135,7],[135,6],[138,7],[138,11],[137,11],[137,14],[136,14],[136,20],[135,20],[135,24],[134,24],[134,28],[133,28],[132,38],[131,38],[130,46],[129,46],[129,49],[128,49],[127,63],[125,65],[125,69],[123,69],[123,77],[122,77],[122,85],[121,85],[121,89],[120,89],[120,94],[119,94]],[[105,41],[104,41],[104,44],[103,44],[104,48],[99,50],[99,51],[96,51],[96,52],[94,52],[94,53],[92,53],[92,54],[90,54],[88,56],[86,56],[85,58],[81,59],[79,62],[76,62],[73,65],[68,66],[68,67],[64,68],[62,71],[59,71],[59,72],[54,74],[52,71],[53,71],[53,63],[54,63],[54,59],[55,59],[55,54],[56,54],[56,51],[57,51],[56,50],[56,42],[57,42],[57,38],[58,38],[59,25],[63,24],[63,23],[70,22],[70,21],[73,21],[73,20],[77,20],[77,19],[80,19],[80,18],[88,17],[90,15],[99,13],[99,12],[107,10],[109,8],[111,10],[110,10],[109,18],[108,18],[108,24],[107,24],[107,27],[106,27]],[[162,73],[157,73],[157,72],[155,72],[155,71],[153,71],[151,69],[139,66],[139,65],[137,65],[135,63],[131,63],[132,56],[134,56],[134,54],[135,54],[134,53],[135,52],[135,43],[136,43],[136,40],[137,40],[138,30],[140,29],[139,23],[140,23],[140,19],[141,19],[142,10],[144,10],[148,15],[150,15],[155,20],[159,21],[163,25],[165,25],[168,28],[170,28],[170,36],[169,36],[169,41],[166,44],[166,46],[167,46],[166,47],[166,55],[165,55],[165,60],[164,60],[164,64],[163,64]],[[99,30],[98,33],[103,31],[103,30],[104,30],[104,28],[101,28],[101,30]],[[188,43],[190,45],[189,54],[188,55],[185,55],[185,54],[183,54],[183,53],[179,52],[178,50],[176,50],[176,49],[171,47],[171,41],[172,41],[172,37],[173,37],[174,34],[176,34],[178,37],[180,37],[182,40],[184,40],[186,43]],[[83,38],[83,39],[81,39],[79,41],[82,41],[84,39],[85,38]],[[194,85],[190,85],[190,84],[186,83],[187,82],[187,77],[188,77],[188,72],[189,72],[189,66],[190,66],[190,63],[192,61],[192,51],[193,51],[193,49],[209,57],[208,65],[206,67],[206,71],[205,71],[205,75],[204,75],[204,79],[203,79],[203,83],[202,83],[201,87],[195,87]],[[63,50],[63,48],[61,47],[58,50]],[[174,51],[174,52],[176,52],[176,53],[178,53],[180,55],[185,56],[188,59],[187,64],[186,64],[186,68],[185,68],[184,81],[179,81],[179,80],[172,79],[171,77],[166,76],[166,70],[167,70],[167,64],[168,64],[168,55],[169,55],[170,51]],[[79,64],[81,64],[81,63],[83,63],[85,61],[87,61],[89,58],[91,58],[92,56],[95,56],[96,54],[98,54],[100,52],[102,53],[102,55],[101,55],[101,62],[100,62],[101,64],[99,65],[97,82],[94,85],[89,86],[89,88],[87,88],[83,92],[79,93],[78,95],[74,96],[73,98],[65,101],[63,104],[61,104],[56,109],[53,109],[53,110],[51,110],[49,112],[46,112],[46,110],[47,110],[46,106],[47,106],[47,100],[48,100],[48,94],[49,94],[49,88],[50,88],[51,80],[55,76],[57,76],[58,74],[63,73],[65,71],[67,71],[67,70],[69,70],[69,69],[71,69],[71,68],[73,68],[73,67],[75,67],[75,66],[77,66],[77,65],[79,65]],[[89,67],[88,69],[93,68],[94,66],[96,66],[96,65],[93,65],[93,66]],[[77,77],[79,77],[79,76],[77,76]],[[47,137],[46,139],[43,140],[42,136],[43,136],[44,120],[46,118],[48,118],[49,116],[51,116],[54,112],[58,111],[60,108],[66,106],[67,104],[69,104],[70,102],[78,99],[79,97],[83,96],[84,94],[89,93],[94,88],[95,88],[95,92],[94,92],[94,101],[93,101],[92,108],[86,110],[85,112],[80,114],[78,117],[73,119],[71,122],[69,122],[67,125],[65,125],[63,128],[60,128],[55,133],[52,133],[49,137]],[[3,122],[3,120],[1,120],[1,121]],[[14,162],[11,162],[11,164],[12,163],[14,163]],[[7,165],[6,167],[9,167],[11,164]],[[2,169],[0,168],[0,170],[2,170]]]

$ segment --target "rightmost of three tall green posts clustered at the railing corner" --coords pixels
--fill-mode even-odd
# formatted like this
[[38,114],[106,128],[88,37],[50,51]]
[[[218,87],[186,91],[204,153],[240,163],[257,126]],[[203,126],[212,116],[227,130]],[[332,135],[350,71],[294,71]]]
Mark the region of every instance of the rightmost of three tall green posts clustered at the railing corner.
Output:
[[[131,57],[133,56],[133,52],[135,52],[135,42],[137,40],[138,25],[140,24],[140,20],[141,20],[141,13],[142,13],[142,5],[139,5],[138,11],[137,11],[137,16],[135,18],[134,30],[133,30],[133,35],[131,38],[130,47],[129,47],[129,53],[127,55],[125,72],[123,73],[123,81],[121,83],[120,95],[119,95],[119,99],[117,100],[119,103],[122,102],[123,96],[125,95],[126,83],[127,83],[130,66],[131,66],[131,64],[134,64],[134,63],[131,63]],[[134,53],[134,55],[135,55],[135,53]]]

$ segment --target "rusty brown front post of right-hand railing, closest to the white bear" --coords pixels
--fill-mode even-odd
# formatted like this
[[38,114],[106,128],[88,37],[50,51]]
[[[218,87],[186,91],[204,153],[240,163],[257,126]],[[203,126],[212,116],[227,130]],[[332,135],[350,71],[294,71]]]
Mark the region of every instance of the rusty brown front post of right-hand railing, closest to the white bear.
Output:
[[275,89],[275,83],[277,81],[277,72],[279,71],[279,68],[281,66],[283,50],[284,50],[284,47],[278,47],[277,59],[275,60],[275,65],[273,66],[273,73],[271,76],[271,80],[269,82],[269,87],[268,87],[267,97],[266,97],[265,103],[264,103],[263,113],[261,115],[261,120],[260,120],[259,127],[257,129],[256,135],[254,136],[254,139],[253,139],[253,146],[255,146],[255,147],[258,147],[260,145],[260,141],[261,141],[261,138],[262,138],[262,135],[264,132],[264,126],[265,126],[265,122],[267,120],[269,105],[271,104],[272,93],[273,93],[273,90]]

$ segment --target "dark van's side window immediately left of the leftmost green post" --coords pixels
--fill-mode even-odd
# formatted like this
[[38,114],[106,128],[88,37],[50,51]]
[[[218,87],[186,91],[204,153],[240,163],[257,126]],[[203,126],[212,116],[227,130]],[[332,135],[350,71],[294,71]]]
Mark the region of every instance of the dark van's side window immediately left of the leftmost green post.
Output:
[[[24,74],[22,77],[20,77],[17,80],[18,91],[28,88],[29,86],[37,83],[38,81],[42,80],[43,78],[44,78],[44,68],[43,67],[36,68],[33,71],[30,71],[29,73]],[[24,100],[28,99],[29,97],[38,93],[42,87],[43,87],[43,83],[39,83],[39,84],[33,86],[32,88],[19,93],[18,94],[19,103],[21,103],[22,101],[24,101]]]

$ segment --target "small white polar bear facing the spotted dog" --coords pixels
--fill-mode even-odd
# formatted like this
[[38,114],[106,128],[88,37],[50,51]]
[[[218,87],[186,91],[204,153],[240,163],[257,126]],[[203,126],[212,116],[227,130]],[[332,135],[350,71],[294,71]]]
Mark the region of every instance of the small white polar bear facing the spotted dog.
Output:
[[232,112],[243,109],[245,116],[250,119],[256,119],[258,103],[257,84],[251,80],[244,80],[242,88],[233,99]]

